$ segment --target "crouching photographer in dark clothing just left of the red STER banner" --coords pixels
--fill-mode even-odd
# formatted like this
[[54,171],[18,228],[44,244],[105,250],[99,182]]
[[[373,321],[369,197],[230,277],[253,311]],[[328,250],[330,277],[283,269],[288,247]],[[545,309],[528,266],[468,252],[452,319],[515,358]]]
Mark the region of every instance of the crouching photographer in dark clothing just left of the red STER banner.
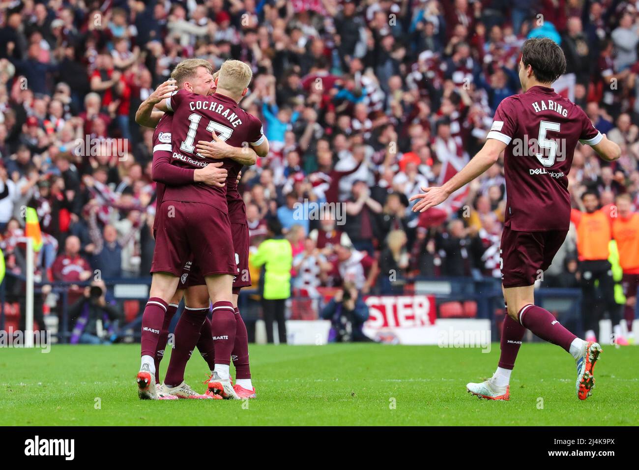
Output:
[[321,318],[330,320],[329,343],[373,341],[362,332],[368,320],[368,306],[353,283],[345,282],[322,309]]

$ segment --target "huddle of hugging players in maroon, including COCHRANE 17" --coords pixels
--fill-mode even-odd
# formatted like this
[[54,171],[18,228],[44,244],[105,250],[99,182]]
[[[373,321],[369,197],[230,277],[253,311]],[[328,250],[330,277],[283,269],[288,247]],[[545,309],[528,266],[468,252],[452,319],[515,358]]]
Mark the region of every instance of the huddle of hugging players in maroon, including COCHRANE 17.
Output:
[[[153,179],[159,187],[138,394],[152,399],[253,398],[246,327],[237,308],[240,288],[250,285],[249,233],[237,180],[243,165],[268,153],[268,141],[261,122],[238,106],[252,72],[240,61],[227,61],[213,79],[208,62],[189,59],[172,77],[175,82],[162,84],[136,114],[138,123],[157,125]],[[166,113],[159,123],[161,113],[153,106]],[[168,325],[183,292],[185,312],[176,325],[171,362],[164,385],[156,386]],[[196,345],[211,370],[205,395],[183,381]],[[231,353],[235,386],[229,375]]]

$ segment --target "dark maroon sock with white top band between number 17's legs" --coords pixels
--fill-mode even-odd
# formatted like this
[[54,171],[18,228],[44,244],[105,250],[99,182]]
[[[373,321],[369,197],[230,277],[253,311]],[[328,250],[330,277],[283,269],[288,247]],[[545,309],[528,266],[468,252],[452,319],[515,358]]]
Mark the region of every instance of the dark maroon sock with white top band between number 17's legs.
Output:
[[171,350],[171,361],[166,370],[164,383],[169,387],[180,385],[184,380],[184,370],[193,349],[196,347],[200,336],[200,330],[208,308],[185,308],[180,315],[178,324],[175,325],[175,344]]

